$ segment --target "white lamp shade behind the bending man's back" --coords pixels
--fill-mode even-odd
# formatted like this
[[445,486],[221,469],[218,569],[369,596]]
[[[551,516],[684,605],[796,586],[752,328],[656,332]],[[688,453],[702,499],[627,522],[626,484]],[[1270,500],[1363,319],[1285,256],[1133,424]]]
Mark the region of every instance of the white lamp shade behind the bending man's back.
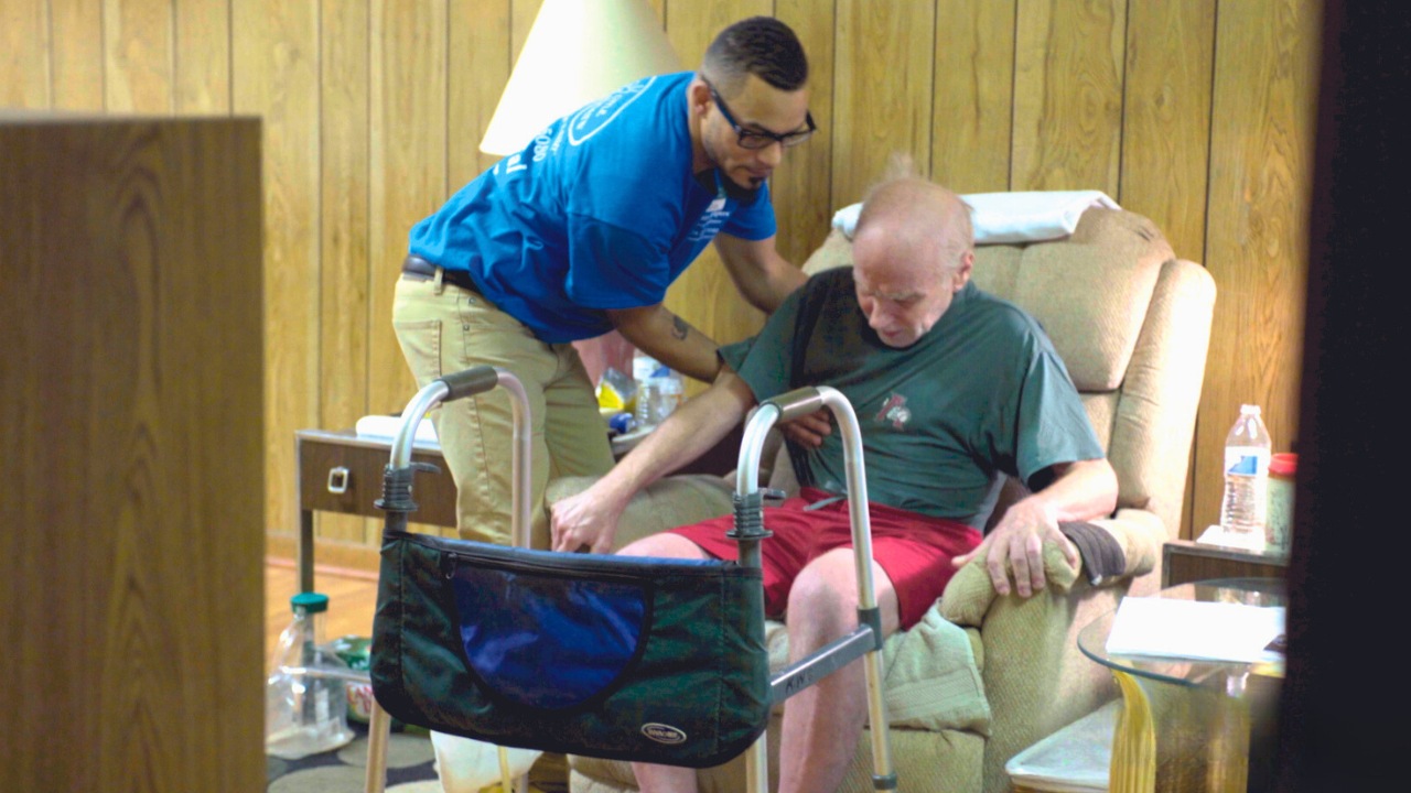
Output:
[[645,0],[543,0],[480,151],[519,151],[555,119],[680,63]]

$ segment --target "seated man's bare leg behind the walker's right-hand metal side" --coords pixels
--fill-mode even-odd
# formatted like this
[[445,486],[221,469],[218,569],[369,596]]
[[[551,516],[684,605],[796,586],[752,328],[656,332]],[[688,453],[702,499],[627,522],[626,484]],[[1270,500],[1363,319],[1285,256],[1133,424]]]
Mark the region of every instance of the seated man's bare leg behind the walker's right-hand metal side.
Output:
[[[882,610],[882,634],[897,629],[896,590],[873,563]],[[858,624],[858,580],[852,549],[813,560],[789,593],[789,660],[799,660]],[[868,717],[866,676],[861,662],[824,677],[785,704],[779,749],[779,793],[835,790],[852,762]]]

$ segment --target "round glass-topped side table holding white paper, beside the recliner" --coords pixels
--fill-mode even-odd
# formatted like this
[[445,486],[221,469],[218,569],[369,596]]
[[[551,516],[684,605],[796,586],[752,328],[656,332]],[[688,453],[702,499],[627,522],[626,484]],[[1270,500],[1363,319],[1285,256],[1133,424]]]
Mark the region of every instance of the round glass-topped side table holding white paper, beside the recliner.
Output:
[[[1153,597],[1287,604],[1280,579],[1187,583]],[[1283,665],[1109,655],[1116,611],[1078,634],[1078,648],[1112,670],[1122,711],[1112,741],[1109,790],[1245,793],[1268,770]]]

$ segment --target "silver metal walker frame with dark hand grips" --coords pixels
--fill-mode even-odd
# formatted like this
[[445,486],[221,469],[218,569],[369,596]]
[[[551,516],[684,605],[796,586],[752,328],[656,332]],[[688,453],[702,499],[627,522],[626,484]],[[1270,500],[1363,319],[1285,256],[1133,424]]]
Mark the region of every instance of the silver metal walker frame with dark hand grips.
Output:
[[[856,415],[852,406],[848,404],[847,398],[830,388],[803,388],[783,394],[773,399],[762,402],[755,408],[749,418],[746,419],[744,439],[739,452],[739,464],[737,474],[737,491],[734,495],[735,501],[735,521],[734,529],[728,536],[739,543],[739,563],[720,563],[713,562],[710,566],[698,566],[694,563],[679,563],[677,560],[656,560],[643,557],[604,557],[604,556],[587,556],[576,553],[552,553],[552,552],[529,552],[528,549],[529,538],[529,504],[528,494],[531,492],[529,485],[529,404],[525,396],[525,391],[519,380],[509,371],[495,367],[474,367],[461,373],[447,375],[444,378],[436,380],[426,385],[412,398],[406,409],[402,412],[401,426],[398,429],[396,439],[392,443],[391,461],[387,466],[384,474],[382,498],[377,505],[387,511],[387,522],[384,529],[384,567],[381,573],[380,593],[378,593],[378,619],[384,619],[384,611],[387,614],[395,614],[398,608],[405,604],[396,601],[401,591],[405,587],[398,588],[398,591],[382,591],[384,588],[394,588],[388,586],[389,570],[398,573],[388,567],[388,547],[389,540],[406,540],[406,523],[408,515],[416,509],[416,504],[412,501],[412,480],[416,473],[416,467],[411,463],[412,453],[412,439],[415,436],[415,429],[426,415],[428,411],[439,405],[440,402],[460,399],[490,391],[491,388],[501,385],[504,387],[512,398],[514,406],[514,449],[512,449],[512,466],[514,466],[514,497],[512,497],[512,538],[516,549],[491,549],[483,543],[471,543],[468,540],[450,540],[444,538],[416,540],[418,545],[428,546],[432,550],[422,547],[422,553],[437,552],[453,559],[471,559],[476,556],[485,556],[490,553],[495,555],[533,555],[532,560],[539,560],[545,564],[552,564],[557,570],[566,570],[573,574],[581,571],[583,577],[591,577],[591,574],[600,576],[619,576],[621,571],[631,571],[634,569],[642,570],[643,574],[649,574],[652,570],[676,570],[676,574],[669,576],[672,581],[679,579],[690,579],[698,574],[725,574],[731,580],[735,579],[749,579],[744,586],[752,587],[748,594],[753,600],[749,603],[758,603],[758,614],[751,618],[749,629],[745,631],[755,636],[762,649],[763,636],[763,594],[762,584],[753,581],[759,580],[761,569],[761,552],[759,540],[768,538],[768,532],[763,526],[763,498],[766,495],[777,495],[773,492],[761,491],[758,484],[758,466],[762,453],[765,436],[769,429],[780,422],[796,416],[811,413],[820,408],[828,408],[834,416],[838,419],[838,425],[842,432],[844,443],[844,461],[847,467],[847,487],[849,495],[849,516],[852,523],[852,542],[855,550],[856,574],[858,574],[858,590],[859,590],[859,607],[858,607],[858,626],[849,634],[835,639],[827,646],[821,648],[818,652],[801,659],[787,669],[779,672],[773,677],[768,679],[768,690],[761,691],[761,707],[749,711],[751,718],[756,722],[748,727],[751,735],[756,738],[748,744],[744,749],[745,753],[745,769],[748,777],[748,790],[751,793],[765,793],[768,790],[768,755],[765,744],[765,725],[769,718],[769,706],[782,703],[790,696],[799,693],[800,690],[814,684],[817,680],[830,674],[831,672],[841,669],[842,666],[851,663],[852,660],[862,658],[864,667],[866,673],[866,687],[868,687],[868,710],[869,721],[872,728],[872,758],[873,758],[873,787],[878,790],[896,790],[897,779],[892,765],[890,742],[886,730],[886,708],[882,697],[882,629],[880,629],[880,612],[876,604],[876,595],[872,580],[872,538],[871,538],[871,523],[866,511],[866,481],[862,467],[862,442],[858,429]],[[509,563],[516,563],[511,560]],[[708,567],[708,569],[707,569]],[[447,576],[449,579],[450,576]],[[621,576],[619,576],[621,577]],[[401,581],[398,579],[398,581]],[[737,581],[738,583],[738,581]],[[464,594],[464,590],[461,590]],[[714,593],[713,593],[714,595]],[[449,597],[449,595],[447,595]],[[384,600],[385,598],[385,600]],[[442,598],[444,600],[444,598]],[[425,598],[419,603],[428,603]],[[389,618],[388,618],[389,619]],[[384,629],[388,625],[378,626],[374,634],[378,636],[384,635]],[[523,626],[523,631],[540,631],[540,625]],[[435,629],[437,634],[452,634],[452,629],[443,629],[437,626]],[[746,639],[751,639],[746,636]],[[398,639],[404,645],[401,638]],[[650,642],[650,638],[643,638],[643,642]],[[749,642],[746,641],[746,646]],[[752,646],[752,645],[751,645]],[[396,652],[405,652],[405,648],[395,648]],[[374,669],[378,669],[378,642],[374,641],[373,656]],[[392,652],[392,650],[387,650]],[[636,656],[649,656],[650,648],[646,650],[638,648]],[[388,659],[382,660],[391,663]],[[450,658],[450,656],[446,656]],[[464,660],[466,655],[460,655]],[[463,673],[463,670],[454,670],[457,674],[466,674],[470,680],[478,682],[474,670]],[[768,674],[765,670],[763,674]],[[722,684],[734,683],[732,680],[722,680]],[[368,724],[368,763],[367,763],[367,779],[365,790],[367,793],[381,793],[385,787],[387,779],[387,737],[391,717],[382,706],[384,693],[377,690],[377,674],[374,673],[374,693],[375,703],[373,706],[371,718]],[[408,687],[415,689],[418,683],[412,680]],[[391,686],[387,689],[391,691]],[[413,691],[415,693],[415,691]],[[476,690],[477,696],[480,691]],[[388,697],[392,694],[388,693]],[[601,696],[600,696],[601,697]],[[484,696],[485,701],[495,703],[497,694],[488,693]],[[389,698],[389,701],[392,701]],[[587,704],[598,701],[594,697],[588,697]],[[587,707],[587,706],[581,706]],[[552,710],[552,708],[550,708]],[[507,710],[505,713],[516,713]],[[566,713],[573,713],[571,708]],[[539,718],[542,714],[536,715]],[[552,714],[550,714],[552,715]],[[408,721],[405,715],[399,714],[399,718]],[[543,717],[547,718],[547,717]],[[428,721],[435,721],[429,718]],[[416,724],[416,721],[411,721]],[[545,724],[545,722],[536,722]],[[422,724],[422,727],[437,730],[437,731],[452,731],[454,732],[457,727],[464,730],[460,722],[452,724],[450,730],[443,730],[446,724]],[[631,725],[634,730],[635,724]],[[646,727],[660,727],[660,725],[645,725]],[[649,735],[653,741],[669,744],[670,727],[658,731],[658,735]],[[543,734],[542,741],[538,738],[525,739],[523,737],[516,737],[514,745],[545,749],[545,751],[563,751],[564,744],[555,730],[539,730]],[[480,737],[474,732],[459,732],[467,734],[467,737]],[[538,744],[538,745],[536,745]],[[612,744],[617,746],[617,744]],[[731,744],[734,745],[734,744]],[[665,751],[665,749],[663,749]],[[594,752],[583,751],[580,748],[573,748],[571,753],[581,753],[588,756],[607,756],[615,759],[629,759],[641,762],[663,762],[659,753],[649,755],[634,755],[631,749],[624,753],[622,749],[614,748],[612,751]],[[738,753],[738,752],[737,752]],[[674,765],[691,765],[691,763],[674,763]],[[700,768],[696,765],[696,768]],[[518,790],[523,793],[528,789],[528,776],[521,776],[518,780]]]

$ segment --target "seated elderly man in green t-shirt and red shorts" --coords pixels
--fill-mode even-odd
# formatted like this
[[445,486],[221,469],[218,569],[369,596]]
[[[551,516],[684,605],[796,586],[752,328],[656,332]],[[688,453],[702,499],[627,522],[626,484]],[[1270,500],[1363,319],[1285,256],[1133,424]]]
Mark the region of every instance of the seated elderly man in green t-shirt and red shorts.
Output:
[[[721,349],[725,365],[707,392],[590,490],[555,505],[555,547],[608,550],[638,490],[701,454],[759,401],[831,385],[862,429],[885,634],[914,625],[954,570],[985,550],[1000,593],[1041,588],[1043,543],[1077,563],[1058,522],[1110,512],[1116,476],[1037,322],[969,282],[972,248],[968,207],[952,192],[917,178],[879,185],[858,219],[855,267],[816,275],[758,337]],[[855,625],[856,581],[841,439],[831,433],[794,452],[806,487],[765,511],[775,536],[761,547],[766,610],[787,612],[797,659]],[[982,538],[999,473],[1019,476],[1033,494]],[[728,523],[673,529],[621,553],[734,559]],[[861,665],[790,698],[780,790],[835,789],[865,718]],[[635,772],[643,790],[696,789],[690,769]]]

